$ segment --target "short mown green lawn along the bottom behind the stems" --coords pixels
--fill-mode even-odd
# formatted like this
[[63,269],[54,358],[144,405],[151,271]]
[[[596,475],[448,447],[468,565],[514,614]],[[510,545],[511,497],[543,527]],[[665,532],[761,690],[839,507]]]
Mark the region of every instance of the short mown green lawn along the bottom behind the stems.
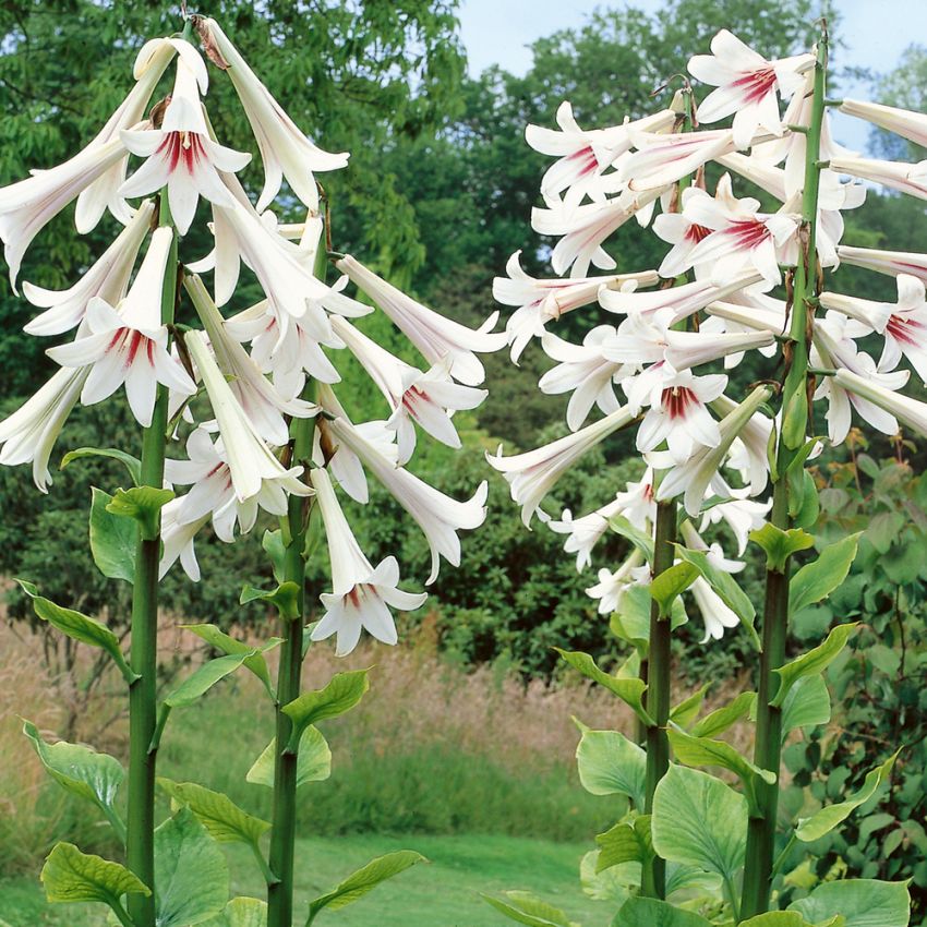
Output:
[[[263,882],[244,850],[229,847],[232,890],[262,896]],[[325,927],[493,927],[511,924],[480,892],[537,892],[585,927],[603,927],[613,905],[587,899],[579,859],[589,847],[508,836],[344,836],[302,840],[297,851],[297,924],[310,898],[334,888],[371,856],[418,850],[431,863],[385,882],[342,911],[323,912]],[[98,905],[47,905],[36,879],[0,882],[0,920],[10,927],[97,927]]]

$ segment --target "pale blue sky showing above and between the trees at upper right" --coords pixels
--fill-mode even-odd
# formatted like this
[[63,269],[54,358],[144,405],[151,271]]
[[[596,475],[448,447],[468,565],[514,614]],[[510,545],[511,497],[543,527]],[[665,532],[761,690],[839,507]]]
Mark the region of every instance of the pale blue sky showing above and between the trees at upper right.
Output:
[[[629,0],[653,11],[661,0]],[[623,0],[462,0],[459,16],[470,71],[479,74],[490,64],[523,74],[531,67],[528,46],[558,29],[581,26],[597,8],[621,8]],[[834,51],[835,68],[890,71],[904,49],[914,43],[927,46],[927,0],[841,0],[841,36],[846,47]],[[757,49],[762,51],[762,49]],[[708,49],[693,49],[693,53]],[[843,83],[845,96],[871,98],[867,85]],[[834,135],[851,148],[863,151],[868,127],[836,113]]]

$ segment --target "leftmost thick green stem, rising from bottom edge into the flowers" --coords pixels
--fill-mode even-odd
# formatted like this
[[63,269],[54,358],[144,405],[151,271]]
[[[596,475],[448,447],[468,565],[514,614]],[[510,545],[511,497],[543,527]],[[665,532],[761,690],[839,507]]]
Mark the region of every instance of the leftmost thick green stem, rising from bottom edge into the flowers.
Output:
[[[166,191],[161,193],[158,225],[171,228]],[[177,300],[177,234],[173,236],[161,296],[161,322],[173,323]],[[142,485],[164,484],[167,443],[167,388],[158,385],[152,424],[142,436]],[[132,588],[132,643],[129,663],[137,678],[129,687],[129,819],[125,858],[129,868],[152,890],[127,899],[135,927],[155,925],[155,762],[153,738],[157,726],[158,564],[160,529],[144,539],[139,530],[135,582]]]

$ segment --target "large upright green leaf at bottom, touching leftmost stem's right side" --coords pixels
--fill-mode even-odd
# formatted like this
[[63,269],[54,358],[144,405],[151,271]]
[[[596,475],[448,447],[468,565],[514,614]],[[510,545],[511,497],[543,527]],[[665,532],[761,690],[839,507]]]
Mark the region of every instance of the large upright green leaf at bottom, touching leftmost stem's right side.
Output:
[[158,927],[193,927],[225,910],[225,854],[189,808],[155,831],[155,884]]

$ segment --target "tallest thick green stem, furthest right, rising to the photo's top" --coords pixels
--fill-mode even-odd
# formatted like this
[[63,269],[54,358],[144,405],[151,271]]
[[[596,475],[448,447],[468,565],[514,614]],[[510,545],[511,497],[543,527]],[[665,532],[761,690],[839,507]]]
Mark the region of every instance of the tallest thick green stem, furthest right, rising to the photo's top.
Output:
[[[797,450],[808,431],[807,396],[809,310],[815,303],[818,286],[816,227],[818,188],[820,183],[821,127],[824,113],[824,77],[827,72],[827,36],[818,44],[815,64],[811,119],[806,136],[805,188],[802,200],[802,253],[795,268],[795,285],[790,327],[791,358],[782,389],[782,433],[776,448],[776,473],[773,483],[771,521],[781,530],[790,528],[788,474]],[[757,697],[757,739],[755,762],[776,775],[776,783],[757,785],[759,814],[750,818],[747,829],[747,850],[744,869],[744,893],[741,914],[745,919],[769,910],[774,876],[775,826],[779,814],[779,775],[782,756],[782,712],[770,705],[779,688],[774,673],[785,662],[788,637],[788,577],[791,562],[782,571],[767,571],[766,607],[763,611],[762,654]]]

